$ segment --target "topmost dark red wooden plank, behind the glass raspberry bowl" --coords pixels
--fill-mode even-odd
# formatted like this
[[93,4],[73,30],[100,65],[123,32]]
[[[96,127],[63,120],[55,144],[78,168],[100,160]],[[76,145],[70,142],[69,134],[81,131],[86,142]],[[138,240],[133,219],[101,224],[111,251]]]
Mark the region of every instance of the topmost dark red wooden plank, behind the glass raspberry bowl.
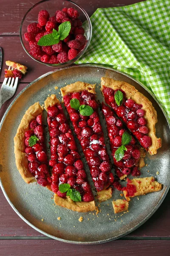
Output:
[[[28,11],[28,9],[30,9],[37,2],[37,0],[13,0],[10,1],[9,4],[9,2],[7,2],[6,0],[1,0],[0,35],[19,35],[20,24],[24,15]],[[91,16],[97,8],[129,5],[132,3],[141,2],[141,0],[78,0],[75,2],[82,6],[82,8],[84,8],[85,11],[88,12],[88,15]]]

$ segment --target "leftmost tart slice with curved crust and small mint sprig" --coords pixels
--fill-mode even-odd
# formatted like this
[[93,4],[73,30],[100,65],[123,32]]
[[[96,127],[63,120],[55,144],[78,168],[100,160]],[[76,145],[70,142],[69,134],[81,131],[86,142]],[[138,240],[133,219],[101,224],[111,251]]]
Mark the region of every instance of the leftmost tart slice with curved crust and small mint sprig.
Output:
[[39,102],[28,108],[14,137],[14,153],[17,169],[26,183],[37,181],[50,189],[42,127],[43,108]]

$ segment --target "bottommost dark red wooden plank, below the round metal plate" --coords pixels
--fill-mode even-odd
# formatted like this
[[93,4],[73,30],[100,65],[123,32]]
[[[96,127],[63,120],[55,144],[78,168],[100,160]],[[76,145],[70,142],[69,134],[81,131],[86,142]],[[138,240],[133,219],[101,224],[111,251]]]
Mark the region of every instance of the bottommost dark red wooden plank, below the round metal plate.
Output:
[[54,240],[6,240],[0,241],[1,256],[169,256],[169,241],[111,241],[105,244],[91,246],[63,244]]

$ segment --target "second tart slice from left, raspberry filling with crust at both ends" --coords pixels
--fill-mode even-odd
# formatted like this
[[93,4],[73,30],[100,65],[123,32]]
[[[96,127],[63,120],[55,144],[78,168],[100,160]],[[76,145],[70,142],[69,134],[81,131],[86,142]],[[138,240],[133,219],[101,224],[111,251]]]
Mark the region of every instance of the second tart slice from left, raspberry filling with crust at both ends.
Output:
[[[62,106],[54,94],[44,103],[50,134],[49,165],[52,168],[51,189],[55,193],[55,204],[77,212],[94,211],[94,196]],[[69,184],[71,189],[77,190],[81,201],[73,201],[66,195],[66,192],[60,192],[60,184],[66,184],[66,186]]]

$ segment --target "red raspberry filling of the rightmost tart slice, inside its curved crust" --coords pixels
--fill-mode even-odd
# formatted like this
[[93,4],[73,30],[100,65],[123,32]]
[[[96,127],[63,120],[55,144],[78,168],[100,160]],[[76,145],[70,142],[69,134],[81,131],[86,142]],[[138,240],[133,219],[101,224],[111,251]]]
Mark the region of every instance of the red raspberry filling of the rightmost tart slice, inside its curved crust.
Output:
[[142,105],[136,104],[132,99],[127,99],[125,92],[120,89],[119,91],[123,93],[123,102],[120,106],[118,106],[114,99],[114,94],[116,91],[117,90],[105,87],[102,90],[105,97],[105,102],[110,105],[116,114],[125,122],[127,128],[139,140],[142,147],[148,150],[152,144],[152,141],[147,135],[147,121],[144,118],[145,111],[142,109]]

